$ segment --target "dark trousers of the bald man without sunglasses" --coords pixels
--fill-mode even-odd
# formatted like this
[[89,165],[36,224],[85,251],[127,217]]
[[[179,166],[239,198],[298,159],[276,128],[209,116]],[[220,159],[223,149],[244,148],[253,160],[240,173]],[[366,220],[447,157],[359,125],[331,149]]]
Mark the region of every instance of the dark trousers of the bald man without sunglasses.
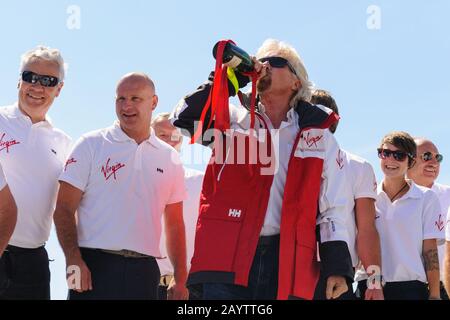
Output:
[[156,300],[159,267],[156,259],[126,258],[97,249],[81,248],[93,290],[69,290],[69,300]]

